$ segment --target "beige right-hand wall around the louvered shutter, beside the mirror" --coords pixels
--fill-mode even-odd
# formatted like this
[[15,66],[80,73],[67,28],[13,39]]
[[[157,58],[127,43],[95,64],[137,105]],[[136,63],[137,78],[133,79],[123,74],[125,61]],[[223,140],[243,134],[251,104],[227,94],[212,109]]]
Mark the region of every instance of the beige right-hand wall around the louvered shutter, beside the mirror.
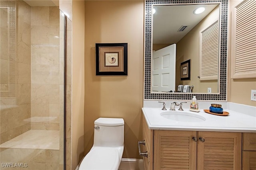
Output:
[[[229,25],[231,25],[231,10],[232,7],[236,6],[242,0],[230,0],[229,1]],[[234,102],[239,104],[245,104],[250,106],[256,106],[255,101],[251,101],[251,90],[256,90],[256,78],[246,78],[246,79],[231,79],[230,78],[230,59],[231,57],[231,39],[230,32],[231,27],[229,27],[229,50],[228,50],[228,102]]]

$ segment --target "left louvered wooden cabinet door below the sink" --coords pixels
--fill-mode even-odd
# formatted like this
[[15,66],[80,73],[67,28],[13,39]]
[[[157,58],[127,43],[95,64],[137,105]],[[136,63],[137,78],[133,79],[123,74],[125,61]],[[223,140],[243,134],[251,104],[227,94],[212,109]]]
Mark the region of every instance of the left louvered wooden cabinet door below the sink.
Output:
[[196,170],[196,131],[154,130],[154,170]]

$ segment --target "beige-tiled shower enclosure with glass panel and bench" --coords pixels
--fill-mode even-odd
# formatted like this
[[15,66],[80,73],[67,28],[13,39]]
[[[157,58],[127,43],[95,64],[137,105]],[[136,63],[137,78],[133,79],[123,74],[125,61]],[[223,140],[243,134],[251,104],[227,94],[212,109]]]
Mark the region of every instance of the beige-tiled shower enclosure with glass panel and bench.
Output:
[[46,1],[0,0],[1,170],[65,167],[64,14]]

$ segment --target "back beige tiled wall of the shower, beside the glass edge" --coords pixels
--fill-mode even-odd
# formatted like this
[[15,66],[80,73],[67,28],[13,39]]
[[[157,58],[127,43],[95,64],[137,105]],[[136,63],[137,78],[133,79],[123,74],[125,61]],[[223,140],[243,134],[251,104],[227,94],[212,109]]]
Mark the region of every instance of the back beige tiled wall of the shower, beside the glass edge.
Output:
[[52,118],[31,122],[31,129],[60,127],[59,14],[56,6],[31,7],[31,117]]

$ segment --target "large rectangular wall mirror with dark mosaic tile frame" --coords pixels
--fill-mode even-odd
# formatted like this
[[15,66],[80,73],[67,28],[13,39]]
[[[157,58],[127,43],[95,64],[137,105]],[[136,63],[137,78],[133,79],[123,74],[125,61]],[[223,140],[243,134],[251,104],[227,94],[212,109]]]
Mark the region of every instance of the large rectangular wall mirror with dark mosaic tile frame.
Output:
[[186,2],[145,1],[144,99],[226,101],[228,0]]

